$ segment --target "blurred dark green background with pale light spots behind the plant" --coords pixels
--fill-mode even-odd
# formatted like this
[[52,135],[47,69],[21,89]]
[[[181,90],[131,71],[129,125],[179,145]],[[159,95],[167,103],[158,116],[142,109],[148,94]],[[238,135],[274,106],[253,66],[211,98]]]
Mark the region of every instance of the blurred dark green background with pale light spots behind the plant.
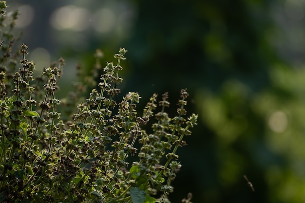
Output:
[[[7,0],[38,72],[66,59],[63,97],[95,49],[124,47],[123,93],[180,89],[199,115],[172,203],[305,202],[303,0]],[[64,89],[63,87],[67,87]],[[244,179],[247,175],[255,192]]]

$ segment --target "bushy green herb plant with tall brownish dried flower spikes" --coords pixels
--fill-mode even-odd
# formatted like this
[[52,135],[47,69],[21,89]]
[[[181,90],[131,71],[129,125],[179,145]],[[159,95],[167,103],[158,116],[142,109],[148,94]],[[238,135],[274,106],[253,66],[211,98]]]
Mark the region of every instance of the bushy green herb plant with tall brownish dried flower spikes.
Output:
[[[153,94],[141,116],[138,93],[129,92],[117,103],[120,62],[127,52],[120,49],[116,65],[107,63],[89,98],[81,95],[95,78],[78,73],[83,82],[59,100],[64,60],[35,78],[28,47],[22,44],[13,54],[18,12],[7,18],[5,8],[0,1],[0,202],[168,203],[181,167],[177,148],[186,144],[183,137],[197,119],[195,114],[186,118],[187,91],[181,90],[173,118],[166,113],[168,93],[159,102]],[[97,72],[100,51],[95,58]],[[191,194],[183,202],[190,200]]]

